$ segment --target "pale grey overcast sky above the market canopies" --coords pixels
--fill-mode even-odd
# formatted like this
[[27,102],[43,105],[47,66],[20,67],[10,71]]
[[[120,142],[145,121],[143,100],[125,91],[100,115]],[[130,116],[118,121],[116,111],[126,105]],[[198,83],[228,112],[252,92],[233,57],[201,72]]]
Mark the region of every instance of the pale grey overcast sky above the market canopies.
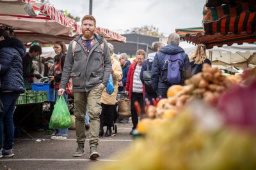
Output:
[[[50,0],[58,10],[83,18],[90,0]],[[198,27],[205,0],[93,0],[92,15],[97,26],[121,32],[153,25],[168,35],[175,28]],[[79,23],[81,24],[81,22]]]

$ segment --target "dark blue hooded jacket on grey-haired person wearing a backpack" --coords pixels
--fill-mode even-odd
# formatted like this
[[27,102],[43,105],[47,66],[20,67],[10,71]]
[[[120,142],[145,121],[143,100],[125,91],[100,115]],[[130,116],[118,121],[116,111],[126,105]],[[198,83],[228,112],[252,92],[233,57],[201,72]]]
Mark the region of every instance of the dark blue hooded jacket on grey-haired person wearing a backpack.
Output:
[[161,75],[161,69],[163,69],[164,65],[164,57],[166,54],[175,55],[177,53],[181,53],[184,65],[185,65],[185,80],[190,77],[190,64],[188,54],[184,52],[184,50],[177,45],[166,45],[159,52],[156,53],[156,56],[153,60],[152,70],[151,70],[151,80],[152,87],[156,91],[157,89],[168,89],[170,85],[167,85],[164,82],[159,81],[159,76]]

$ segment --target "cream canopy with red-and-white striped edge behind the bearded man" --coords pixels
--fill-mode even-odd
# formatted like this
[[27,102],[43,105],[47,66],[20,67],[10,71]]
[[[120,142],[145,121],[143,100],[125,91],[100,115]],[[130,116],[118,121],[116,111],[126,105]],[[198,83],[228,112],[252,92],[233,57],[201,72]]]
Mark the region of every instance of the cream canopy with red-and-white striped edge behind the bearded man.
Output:
[[[68,39],[72,40],[82,32],[81,25],[72,18],[66,17],[53,6],[32,0],[0,0],[0,25],[20,30],[16,31],[20,36],[36,34],[35,38],[41,37],[43,42],[46,40],[44,37],[49,36],[54,36],[52,39],[63,37],[64,40],[70,37]],[[101,28],[97,30],[107,41],[126,41],[124,36],[116,32]]]

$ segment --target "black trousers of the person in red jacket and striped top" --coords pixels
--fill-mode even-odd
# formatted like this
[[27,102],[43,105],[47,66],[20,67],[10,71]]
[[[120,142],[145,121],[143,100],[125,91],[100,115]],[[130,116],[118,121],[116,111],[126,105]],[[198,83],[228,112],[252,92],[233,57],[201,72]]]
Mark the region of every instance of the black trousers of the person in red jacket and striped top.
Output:
[[144,106],[143,106],[143,93],[136,93],[132,92],[132,97],[131,97],[131,113],[132,113],[132,129],[135,129],[138,125],[138,113],[135,110],[134,103],[138,101],[140,103],[140,108],[141,112],[144,113]]

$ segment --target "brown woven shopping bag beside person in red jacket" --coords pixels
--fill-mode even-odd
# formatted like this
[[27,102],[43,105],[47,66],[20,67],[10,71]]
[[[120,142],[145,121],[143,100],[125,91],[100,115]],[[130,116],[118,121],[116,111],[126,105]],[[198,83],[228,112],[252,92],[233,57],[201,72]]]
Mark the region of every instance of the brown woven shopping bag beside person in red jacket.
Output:
[[127,97],[118,99],[118,114],[126,118],[131,117],[131,103]]

